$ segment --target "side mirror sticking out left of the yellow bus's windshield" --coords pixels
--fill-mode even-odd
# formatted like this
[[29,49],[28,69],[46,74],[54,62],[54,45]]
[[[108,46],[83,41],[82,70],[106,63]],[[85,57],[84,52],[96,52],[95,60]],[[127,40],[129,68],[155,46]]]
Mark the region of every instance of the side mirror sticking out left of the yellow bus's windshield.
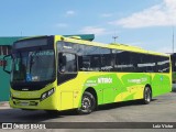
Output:
[[9,64],[8,62],[10,62],[11,58],[12,58],[11,55],[6,55],[6,56],[3,57],[3,72],[6,72],[6,73],[8,73],[8,74],[11,73],[10,65],[8,65],[8,64]]

